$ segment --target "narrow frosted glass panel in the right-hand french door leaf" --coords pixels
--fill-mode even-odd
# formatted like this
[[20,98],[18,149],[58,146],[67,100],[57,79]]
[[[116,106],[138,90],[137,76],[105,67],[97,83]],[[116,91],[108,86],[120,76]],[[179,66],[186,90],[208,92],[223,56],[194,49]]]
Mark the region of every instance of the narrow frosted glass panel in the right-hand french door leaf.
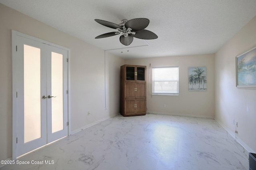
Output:
[[[52,133],[63,129],[63,55],[52,52]],[[56,97],[55,97],[56,96]]]

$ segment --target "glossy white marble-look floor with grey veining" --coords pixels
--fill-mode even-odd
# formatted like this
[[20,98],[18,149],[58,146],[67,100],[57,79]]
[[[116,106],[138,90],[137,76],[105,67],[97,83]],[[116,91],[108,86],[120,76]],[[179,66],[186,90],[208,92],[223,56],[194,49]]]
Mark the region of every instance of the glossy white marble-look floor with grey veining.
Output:
[[[229,134],[228,134],[229,135]],[[234,142],[234,138],[228,136]],[[54,164],[1,170],[248,170],[249,163],[214,119],[147,114],[106,121],[19,158]]]

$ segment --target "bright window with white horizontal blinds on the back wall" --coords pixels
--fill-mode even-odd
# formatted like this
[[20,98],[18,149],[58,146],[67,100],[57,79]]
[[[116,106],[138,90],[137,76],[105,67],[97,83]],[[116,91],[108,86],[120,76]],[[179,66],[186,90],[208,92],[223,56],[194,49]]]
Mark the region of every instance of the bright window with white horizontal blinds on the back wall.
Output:
[[152,67],[152,95],[179,95],[179,67]]

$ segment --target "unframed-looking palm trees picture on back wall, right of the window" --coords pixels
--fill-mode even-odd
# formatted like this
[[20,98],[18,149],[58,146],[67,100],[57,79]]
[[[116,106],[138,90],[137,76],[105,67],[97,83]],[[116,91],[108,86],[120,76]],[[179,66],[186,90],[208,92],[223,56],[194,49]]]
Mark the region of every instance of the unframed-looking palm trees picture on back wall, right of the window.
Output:
[[206,67],[188,67],[188,91],[206,90]]

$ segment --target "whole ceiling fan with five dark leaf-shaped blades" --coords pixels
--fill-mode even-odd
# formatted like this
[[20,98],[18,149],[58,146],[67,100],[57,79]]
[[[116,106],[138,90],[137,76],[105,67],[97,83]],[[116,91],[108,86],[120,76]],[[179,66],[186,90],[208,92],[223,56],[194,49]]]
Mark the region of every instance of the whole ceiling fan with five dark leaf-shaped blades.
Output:
[[106,34],[99,35],[95,37],[106,38],[115,35],[121,35],[119,40],[123,45],[130,45],[133,38],[139,38],[144,40],[152,40],[158,38],[158,36],[151,31],[144,30],[148,24],[149,20],[147,18],[134,18],[132,20],[122,20],[122,23],[115,24],[112,22],[95,19],[96,22],[102,24],[103,26],[116,29],[116,32],[108,32]]

